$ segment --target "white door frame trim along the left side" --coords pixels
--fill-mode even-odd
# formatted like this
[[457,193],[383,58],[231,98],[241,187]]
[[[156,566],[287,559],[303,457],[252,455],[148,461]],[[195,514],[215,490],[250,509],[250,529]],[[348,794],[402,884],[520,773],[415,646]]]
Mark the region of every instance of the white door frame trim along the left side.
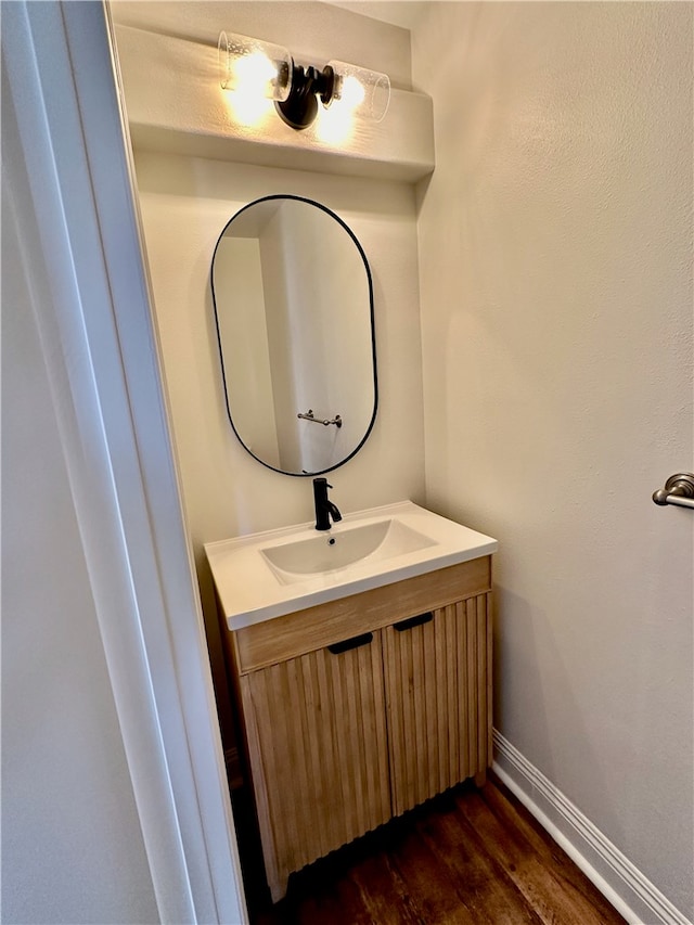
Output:
[[[34,310],[163,922],[245,923],[205,631],[100,0],[2,3],[52,280]],[[21,229],[20,229],[21,233]],[[27,235],[28,236],[28,235]]]

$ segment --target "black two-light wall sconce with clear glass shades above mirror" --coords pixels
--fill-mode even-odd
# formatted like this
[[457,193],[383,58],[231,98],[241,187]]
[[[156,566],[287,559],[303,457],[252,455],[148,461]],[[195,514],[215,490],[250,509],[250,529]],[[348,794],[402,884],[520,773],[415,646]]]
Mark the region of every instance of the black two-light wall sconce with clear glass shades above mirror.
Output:
[[221,86],[274,100],[280,117],[294,129],[310,126],[322,105],[381,121],[390,102],[387,74],[330,61],[325,67],[296,64],[282,46],[234,33],[219,36]]

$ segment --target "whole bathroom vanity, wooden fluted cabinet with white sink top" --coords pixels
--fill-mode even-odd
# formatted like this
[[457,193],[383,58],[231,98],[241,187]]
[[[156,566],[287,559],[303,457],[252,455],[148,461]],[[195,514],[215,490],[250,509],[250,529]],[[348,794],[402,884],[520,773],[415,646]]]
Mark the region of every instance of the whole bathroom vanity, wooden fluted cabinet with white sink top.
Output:
[[[491,761],[496,541],[410,502],[311,531],[206,547],[274,901],[293,871]],[[329,569],[336,547],[352,561]],[[265,604],[240,608],[234,567]]]

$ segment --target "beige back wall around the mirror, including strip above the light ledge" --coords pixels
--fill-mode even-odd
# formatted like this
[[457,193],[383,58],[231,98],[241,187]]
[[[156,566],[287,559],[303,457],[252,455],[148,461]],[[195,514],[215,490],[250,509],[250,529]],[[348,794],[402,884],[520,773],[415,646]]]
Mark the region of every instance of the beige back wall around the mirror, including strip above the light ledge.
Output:
[[[193,9],[194,7],[194,9]],[[320,60],[363,64],[381,54],[396,85],[410,76],[408,35],[322,3],[117,2],[116,22],[209,40],[221,28],[281,40]],[[376,66],[373,64],[373,66]],[[128,99],[138,92],[128,83]],[[374,284],[378,416],[369,440],[331,474],[343,512],[424,500],[422,355],[415,194],[410,184],[282,170],[136,151],[145,246],[155,299],[183,504],[195,554],[216,689],[226,688],[203,543],[313,516],[310,479],[256,462],[231,431],[214,330],[209,268],[217,239],[243,205],[293,193],[333,209],[355,232]],[[339,344],[335,344],[339,349]],[[233,741],[229,706],[219,711]]]

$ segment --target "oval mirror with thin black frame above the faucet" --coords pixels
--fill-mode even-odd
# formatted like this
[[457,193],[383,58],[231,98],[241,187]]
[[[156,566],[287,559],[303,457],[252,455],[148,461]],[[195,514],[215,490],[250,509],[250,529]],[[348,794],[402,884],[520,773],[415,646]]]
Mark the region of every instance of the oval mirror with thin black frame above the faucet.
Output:
[[222,231],[211,266],[227,410],[264,465],[317,475],[376,415],[373,287],[361,245],[320,203],[266,196]]

